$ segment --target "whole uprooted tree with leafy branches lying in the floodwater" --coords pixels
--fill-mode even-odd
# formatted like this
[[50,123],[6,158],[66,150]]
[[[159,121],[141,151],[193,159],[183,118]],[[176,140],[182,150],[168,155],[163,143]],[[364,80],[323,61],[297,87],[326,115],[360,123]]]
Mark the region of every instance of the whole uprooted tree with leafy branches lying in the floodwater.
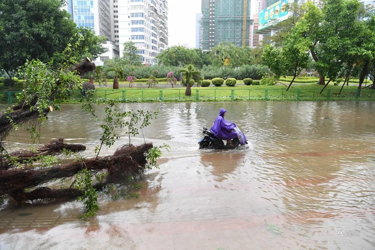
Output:
[[[156,118],[157,111],[118,112],[115,104],[110,102],[105,109],[96,157],[84,159],[76,153],[85,150],[84,145],[66,144],[62,138],[16,152],[6,150],[7,136],[20,126],[26,127],[31,141],[39,139],[38,128],[47,120],[48,114],[60,109],[60,104],[69,97],[73,88],[82,88],[80,75],[95,70],[95,64],[89,58],[78,63],[74,51],[81,39],[72,40],[77,42],[69,43],[58,69],[52,67],[52,63],[32,60],[19,70],[24,78],[23,91],[17,95],[19,103],[0,115],[0,196],[12,198],[19,204],[77,197],[84,201],[86,213],[83,217],[87,217],[95,215],[98,210],[99,190],[134,180],[146,169],[157,167],[160,150],[167,146],[130,144],[130,135],[135,136],[138,129],[148,126],[150,120]],[[93,93],[86,91],[88,93],[81,97],[82,108],[96,117]],[[103,146],[111,147],[115,139],[120,138],[116,132],[118,128],[127,129],[129,144],[119,147],[112,156],[100,156]],[[75,160],[64,163],[54,157],[61,153],[74,156]],[[59,189],[48,187],[48,183],[56,180],[60,180]]]

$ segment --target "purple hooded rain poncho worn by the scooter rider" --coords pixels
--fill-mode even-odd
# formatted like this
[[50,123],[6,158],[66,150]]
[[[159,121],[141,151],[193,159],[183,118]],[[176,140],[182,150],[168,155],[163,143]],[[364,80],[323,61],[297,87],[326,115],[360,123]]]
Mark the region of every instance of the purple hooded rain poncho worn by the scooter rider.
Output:
[[[245,135],[237,128],[236,124],[224,119],[224,113],[226,113],[226,110],[221,108],[219,115],[217,115],[216,120],[214,121],[213,126],[210,129],[211,132],[213,132],[217,138],[226,141],[239,137],[237,133],[240,133],[240,139],[242,139],[240,140],[240,142],[242,145],[244,145],[246,142]],[[235,129],[237,130],[237,132],[235,131]]]

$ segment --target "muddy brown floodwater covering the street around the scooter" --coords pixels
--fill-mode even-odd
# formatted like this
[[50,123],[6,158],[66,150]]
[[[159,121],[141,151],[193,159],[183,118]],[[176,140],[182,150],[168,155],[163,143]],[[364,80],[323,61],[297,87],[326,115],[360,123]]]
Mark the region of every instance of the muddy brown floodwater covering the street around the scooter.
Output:
[[[219,111],[245,132],[234,151],[198,150],[201,127]],[[94,156],[97,121],[64,105],[42,126],[41,143],[83,143]],[[75,200],[0,209],[0,249],[375,249],[375,102],[134,103],[160,110],[146,142],[172,147],[139,181],[139,198],[99,198],[78,220]],[[329,119],[323,117],[329,116]],[[126,144],[123,136],[103,151]],[[139,135],[132,139],[140,144]],[[24,132],[8,146],[24,147]]]

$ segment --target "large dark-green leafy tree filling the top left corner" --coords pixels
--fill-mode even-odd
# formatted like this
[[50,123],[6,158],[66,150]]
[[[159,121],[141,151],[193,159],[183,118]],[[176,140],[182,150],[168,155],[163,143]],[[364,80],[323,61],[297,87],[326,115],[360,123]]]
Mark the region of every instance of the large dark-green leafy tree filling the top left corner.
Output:
[[[71,16],[62,10],[62,0],[7,0],[0,3],[0,64],[9,77],[26,60],[49,61],[61,53],[75,33],[88,36],[80,52],[86,55],[90,46],[92,56],[102,52],[101,39],[92,31],[77,29]],[[89,38],[90,37],[90,38]],[[58,60],[58,59],[57,59]]]

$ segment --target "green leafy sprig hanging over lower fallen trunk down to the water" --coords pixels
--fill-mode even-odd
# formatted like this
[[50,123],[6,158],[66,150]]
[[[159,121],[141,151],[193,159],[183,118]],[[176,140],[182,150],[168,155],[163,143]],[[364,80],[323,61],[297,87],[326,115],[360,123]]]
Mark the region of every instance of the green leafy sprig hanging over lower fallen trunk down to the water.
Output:
[[86,206],[86,213],[81,216],[81,219],[85,219],[89,216],[95,216],[96,211],[99,209],[98,192],[93,187],[92,175],[92,171],[83,168],[80,172],[78,172],[71,185],[72,187],[75,187],[83,192],[83,195],[77,198],[77,201],[84,201],[83,204]]

